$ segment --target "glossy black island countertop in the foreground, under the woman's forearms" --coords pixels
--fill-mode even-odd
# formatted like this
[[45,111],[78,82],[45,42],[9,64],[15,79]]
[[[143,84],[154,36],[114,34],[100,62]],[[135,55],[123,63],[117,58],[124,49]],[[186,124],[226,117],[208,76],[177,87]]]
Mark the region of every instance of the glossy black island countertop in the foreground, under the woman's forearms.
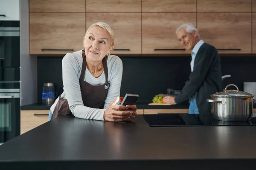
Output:
[[61,116],[0,145],[1,169],[253,169],[256,126],[149,127]]

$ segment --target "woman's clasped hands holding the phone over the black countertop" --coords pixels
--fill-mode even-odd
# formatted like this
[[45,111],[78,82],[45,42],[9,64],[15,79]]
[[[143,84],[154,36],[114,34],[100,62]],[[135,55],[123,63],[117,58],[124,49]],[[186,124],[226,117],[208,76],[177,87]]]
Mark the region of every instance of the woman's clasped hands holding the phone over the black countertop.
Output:
[[[119,101],[119,97],[113,100],[108,108],[104,112],[104,120],[109,122],[123,122],[129,121],[131,116],[133,116],[134,111],[128,110],[125,106],[116,105],[116,102]],[[134,107],[133,107],[134,108]],[[137,108],[136,108],[137,110]],[[135,110],[135,113],[137,114]],[[132,118],[133,119],[133,118]],[[130,120],[131,121],[131,120]]]

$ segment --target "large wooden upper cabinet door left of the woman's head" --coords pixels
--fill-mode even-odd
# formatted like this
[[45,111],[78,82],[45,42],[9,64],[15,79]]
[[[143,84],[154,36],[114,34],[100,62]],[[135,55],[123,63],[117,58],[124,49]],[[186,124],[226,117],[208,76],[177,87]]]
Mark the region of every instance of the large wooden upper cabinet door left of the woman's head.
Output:
[[83,48],[85,13],[30,13],[30,54],[67,54]]

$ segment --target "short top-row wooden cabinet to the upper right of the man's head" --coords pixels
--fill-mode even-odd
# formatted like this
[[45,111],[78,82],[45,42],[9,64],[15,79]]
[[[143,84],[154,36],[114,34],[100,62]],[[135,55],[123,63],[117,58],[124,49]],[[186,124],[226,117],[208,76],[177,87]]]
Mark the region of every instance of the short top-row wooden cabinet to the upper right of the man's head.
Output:
[[197,12],[251,12],[251,0],[197,0]]

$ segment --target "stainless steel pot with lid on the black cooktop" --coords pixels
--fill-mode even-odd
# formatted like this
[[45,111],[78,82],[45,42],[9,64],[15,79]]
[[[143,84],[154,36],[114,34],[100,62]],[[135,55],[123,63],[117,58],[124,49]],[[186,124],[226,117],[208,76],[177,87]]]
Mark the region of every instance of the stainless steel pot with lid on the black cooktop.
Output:
[[[229,86],[235,86],[237,90],[227,90]],[[221,121],[249,121],[253,116],[252,94],[239,91],[236,85],[227,85],[224,91],[211,95],[212,115]]]

